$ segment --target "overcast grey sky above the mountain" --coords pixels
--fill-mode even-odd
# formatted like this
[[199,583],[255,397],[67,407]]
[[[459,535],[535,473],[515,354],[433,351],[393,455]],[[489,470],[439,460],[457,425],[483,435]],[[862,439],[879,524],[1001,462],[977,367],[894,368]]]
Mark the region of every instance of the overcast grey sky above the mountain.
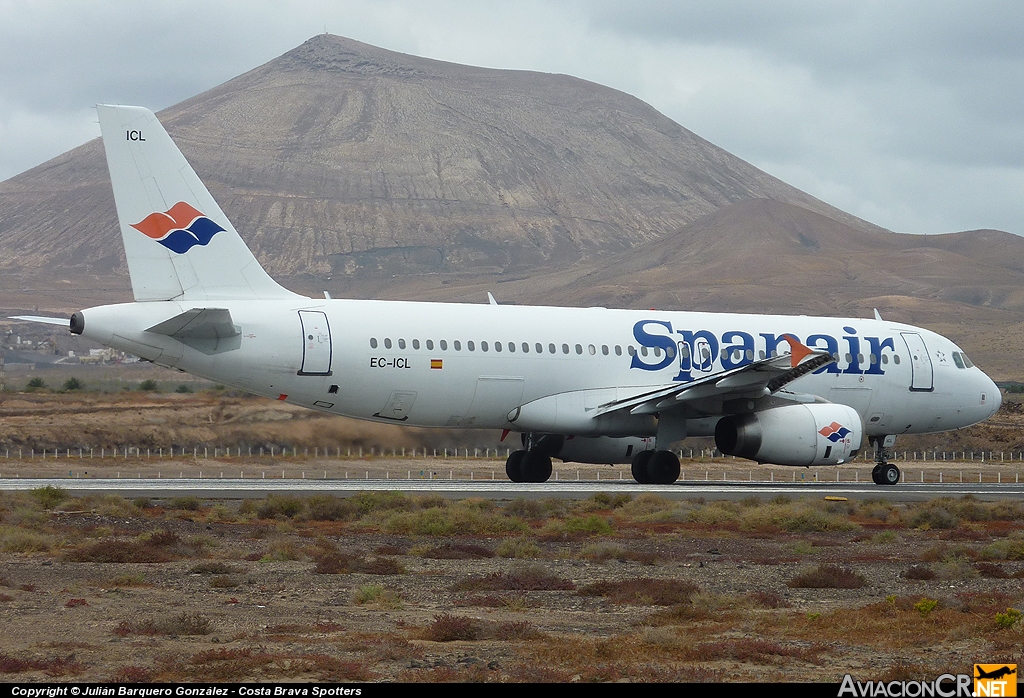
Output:
[[634,94],[900,232],[1024,234],[1024,3],[0,0],[0,180],[331,34]]

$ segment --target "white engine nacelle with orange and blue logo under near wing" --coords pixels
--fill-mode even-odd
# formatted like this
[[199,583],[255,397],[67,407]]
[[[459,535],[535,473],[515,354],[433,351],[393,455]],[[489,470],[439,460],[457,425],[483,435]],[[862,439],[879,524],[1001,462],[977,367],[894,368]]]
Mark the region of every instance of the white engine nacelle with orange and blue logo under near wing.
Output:
[[779,466],[838,466],[856,455],[863,436],[857,410],[833,403],[732,415],[715,427],[723,453]]

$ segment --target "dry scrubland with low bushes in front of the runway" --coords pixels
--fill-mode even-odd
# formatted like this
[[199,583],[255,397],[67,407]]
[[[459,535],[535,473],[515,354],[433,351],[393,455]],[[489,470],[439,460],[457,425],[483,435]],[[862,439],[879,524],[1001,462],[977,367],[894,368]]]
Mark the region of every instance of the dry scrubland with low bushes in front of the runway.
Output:
[[0,497],[6,681],[838,681],[1017,662],[1024,507]]

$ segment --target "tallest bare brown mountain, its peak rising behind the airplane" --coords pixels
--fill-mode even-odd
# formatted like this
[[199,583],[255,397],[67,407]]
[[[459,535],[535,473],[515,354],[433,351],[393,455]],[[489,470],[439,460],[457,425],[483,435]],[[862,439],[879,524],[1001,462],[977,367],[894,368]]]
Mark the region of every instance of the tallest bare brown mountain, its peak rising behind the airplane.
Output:
[[[278,276],[518,272],[772,199],[879,230],[628,94],[321,35],[161,120]],[[0,183],[0,269],[125,271],[98,140]]]

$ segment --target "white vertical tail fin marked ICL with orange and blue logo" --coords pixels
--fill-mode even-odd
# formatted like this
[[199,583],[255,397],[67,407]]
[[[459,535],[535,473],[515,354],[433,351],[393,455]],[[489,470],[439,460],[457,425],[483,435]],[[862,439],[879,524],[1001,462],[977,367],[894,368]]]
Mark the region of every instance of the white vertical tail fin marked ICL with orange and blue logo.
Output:
[[153,112],[96,112],[136,301],[297,297],[256,261]]

